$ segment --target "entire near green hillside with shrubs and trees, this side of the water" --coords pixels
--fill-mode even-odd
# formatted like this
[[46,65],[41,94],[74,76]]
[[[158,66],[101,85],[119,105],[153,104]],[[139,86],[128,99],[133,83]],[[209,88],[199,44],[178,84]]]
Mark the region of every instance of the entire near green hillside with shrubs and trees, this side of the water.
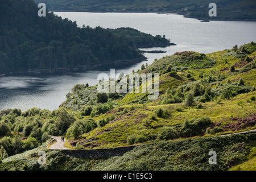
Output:
[[[0,168],[12,169],[15,154],[41,146],[48,135],[65,135],[65,146],[73,149],[143,145],[98,160],[46,150],[49,164],[42,169],[255,170],[255,134],[217,137],[256,128],[255,56],[256,44],[251,42],[155,60],[136,73],[159,73],[156,100],[148,100],[149,93],[99,94],[97,85],[77,84],[52,112],[2,110]],[[20,132],[27,139],[22,140]],[[215,167],[207,164],[210,149],[218,151]],[[25,158],[16,166],[28,163]],[[36,168],[32,162],[26,165]]]

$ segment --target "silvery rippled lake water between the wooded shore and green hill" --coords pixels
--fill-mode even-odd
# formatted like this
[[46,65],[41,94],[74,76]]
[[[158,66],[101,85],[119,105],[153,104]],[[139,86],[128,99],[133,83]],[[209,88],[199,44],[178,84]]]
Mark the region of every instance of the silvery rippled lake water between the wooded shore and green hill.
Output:
[[[174,14],[154,13],[55,13],[62,18],[76,20],[78,26],[101,26],[103,28],[132,27],[152,35],[166,35],[177,46],[166,48],[146,48],[143,50],[163,50],[167,53],[145,53],[148,61],[116,67],[116,73],[131,73],[142,64],[151,64],[157,58],[172,55],[179,51],[210,53],[230,49],[235,44],[241,46],[256,42],[256,22],[214,21],[183,18]],[[113,67],[114,68],[114,67]],[[97,83],[99,73],[109,74],[109,69],[64,73],[44,76],[5,76],[0,77],[0,110],[20,108],[23,111],[32,107],[54,110],[65,101],[65,95],[75,84]]]

